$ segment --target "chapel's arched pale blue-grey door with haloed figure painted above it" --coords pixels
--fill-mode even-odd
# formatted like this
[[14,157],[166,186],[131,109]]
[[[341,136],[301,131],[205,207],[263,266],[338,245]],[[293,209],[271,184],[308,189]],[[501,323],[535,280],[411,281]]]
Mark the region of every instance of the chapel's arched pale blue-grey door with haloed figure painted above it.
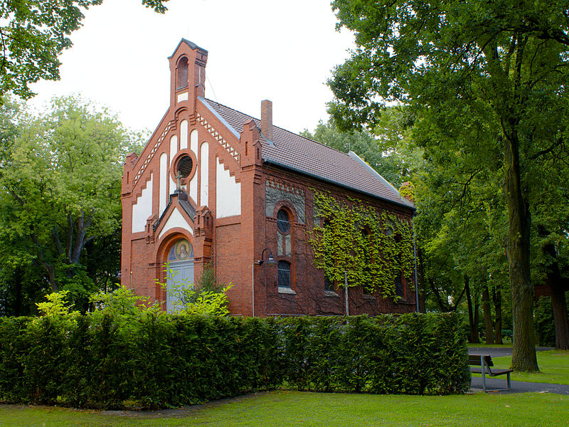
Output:
[[193,247],[185,238],[172,245],[168,253],[169,271],[166,274],[166,311],[174,312],[184,302],[182,288],[193,288]]

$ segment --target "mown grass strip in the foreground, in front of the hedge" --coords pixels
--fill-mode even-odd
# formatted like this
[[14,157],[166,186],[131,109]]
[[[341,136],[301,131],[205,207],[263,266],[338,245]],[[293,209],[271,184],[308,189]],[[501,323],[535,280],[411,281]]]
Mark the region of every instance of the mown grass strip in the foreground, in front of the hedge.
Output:
[[[275,391],[180,411],[116,413],[0,406],[0,426],[569,426],[569,396],[378,396]],[[499,422],[498,422],[499,420]]]

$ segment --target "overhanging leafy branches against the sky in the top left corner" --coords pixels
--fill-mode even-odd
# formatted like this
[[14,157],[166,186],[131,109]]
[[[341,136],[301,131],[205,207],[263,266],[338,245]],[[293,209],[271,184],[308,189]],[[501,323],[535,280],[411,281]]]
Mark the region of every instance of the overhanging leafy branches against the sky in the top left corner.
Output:
[[[142,0],[163,14],[168,0]],[[0,0],[0,97],[34,94],[29,83],[59,80],[58,56],[72,46],[68,37],[81,26],[83,11],[102,0]],[[1,100],[1,99],[0,99]]]

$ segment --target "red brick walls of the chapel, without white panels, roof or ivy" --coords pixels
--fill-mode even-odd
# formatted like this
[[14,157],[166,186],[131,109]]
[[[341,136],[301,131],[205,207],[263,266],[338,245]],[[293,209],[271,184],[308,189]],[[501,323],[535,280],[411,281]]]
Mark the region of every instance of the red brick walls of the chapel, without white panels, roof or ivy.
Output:
[[[187,238],[194,246],[196,254],[195,278],[198,278],[203,263],[211,261],[217,278],[223,283],[232,283],[233,288],[228,292],[230,297],[230,311],[234,315],[252,315],[252,270],[254,274],[254,300],[255,315],[342,315],[345,311],[344,290],[336,291],[337,296],[326,296],[324,293],[324,274],[314,268],[312,264],[312,249],[307,243],[307,230],[312,227],[312,196],[313,190],[330,191],[337,198],[361,199],[362,201],[391,211],[403,218],[410,219],[412,212],[402,206],[379,201],[373,197],[358,194],[332,184],[308,178],[294,172],[276,167],[267,167],[257,159],[257,148],[260,147],[260,130],[252,122],[246,123],[240,139],[236,139],[232,132],[225,129],[223,123],[216,115],[196,102],[197,95],[203,95],[203,88],[192,89],[191,85],[188,101],[177,102],[177,94],[181,90],[175,88],[175,73],[177,60],[181,55],[190,58],[189,64],[194,67],[189,70],[188,78],[196,79],[196,70],[203,68],[207,60],[204,51],[191,51],[188,46],[181,45],[179,51],[170,58],[172,72],[171,107],[162,119],[159,127],[144,148],[141,156],[129,157],[124,165],[122,181],[122,207],[123,207],[123,235],[122,235],[122,285],[130,287],[132,271],[132,285],[139,295],[147,295],[152,299],[164,300],[164,291],[156,285],[156,279],[164,282],[164,262],[169,248],[181,237]],[[179,122],[188,120],[188,135],[193,129],[198,130],[198,156],[201,144],[209,144],[209,196],[208,202],[201,201],[207,206],[213,216],[213,227],[205,231],[203,224],[194,224],[192,219],[184,214],[186,221],[196,230],[196,236],[188,230],[174,228],[161,238],[161,227],[167,221],[167,215],[162,218],[158,228],[154,231],[154,224],[158,223],[159,216],[159,157],[163,152],[169,153],[169,139],[171,135],[179,135]],[[212,135],[202,125],[203,120],[218,132]],[[166,132],[166,130],[168,130]],[[241,130],[238,130],[241,131]],[[233,149],[240,154],[239,162],[228,153],[225,147],[218,142],[219,138],[229,142]],[[162,140],[161,145],[154,149],[156,142]],[[188,143],[189,144],[189,143]],[[245,154],[245,147],[248,147]],[[153,151],[154,149],[154,151]],[[145,159],[153,156],[151,161],[144,165]],[[223,166],[229,169],[230,174],[241,184],[241,214],[228,218],[216,218],[216,159],[220,159]],[[199,159],[198,162],[202,162]],[[144,166],[143,166],[144,165]],[[145,167],[144,174],[140,176],[136,185],[133,185],[134,176]],[[148,181],[150,173],[153,174],[153,216],[149,218],[147,228],[141,233],[131,233],[132,205],[140,194],[144,183]],[[196,173],[199,173],[196,172]],[[277,254],[277,223],[276,212],[280,206],[293,210],[287,201],[275,206],[271,216],[265,214],[265,180],[272,179],[288,186],[301,189],[305,199],[305,223],[296,221],[292,225],[291,238],[293,253],[286,259],[292,262],[292,290],[296,295],[278,292],[276,285],[277,267],[270,265],[257,265],[263,250],[269,248],[275,260],[280,259]],[[171,192],[171,191],[170,191]],[[198,187],[198,194],[201,189]],[[173,204],[177,198],[172,199]],[[191,200],[190,200],[191,201]],[[193,208],[199,209],[195,201],[191,201]],[[170,210],[172,209],[172,206]],[[204,208],[205,209],[205,208]],[[169,211],[166,211],[169,213]],[[267,260],[267,252],[265,257]],[[284,259],[281,257],[281,259]],[[255,264],[255,265],[254,265]],[[409,284],[405,284],[404,302],[395,304],[391,300],[381,297],[363,295],[361,289],[349,289],[350,314],[369,313],[375,315],[379,312],[410,312],[415,310],[415,292]],[[331,294],[329,294],[331,295]]]

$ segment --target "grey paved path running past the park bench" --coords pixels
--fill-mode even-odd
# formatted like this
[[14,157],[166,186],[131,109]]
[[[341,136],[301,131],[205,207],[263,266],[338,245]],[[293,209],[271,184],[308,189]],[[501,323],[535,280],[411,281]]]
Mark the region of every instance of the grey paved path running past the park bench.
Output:
[[[553,350],[553,347],[536,347],[538,352]],[[511,356],[511,347],[468,347],[468,354],[490,354],[491,357]],[[525,381],[511,381],[511,390],[502,390],[506,387],[506,376],[497,378],[486,376],[486,390],[498,390],[500,393],[555,393],[569,396],[569,386],[562,384],[532,383]],[[482,377],[473,376],[470,388],[474,391],[482,391]]]

